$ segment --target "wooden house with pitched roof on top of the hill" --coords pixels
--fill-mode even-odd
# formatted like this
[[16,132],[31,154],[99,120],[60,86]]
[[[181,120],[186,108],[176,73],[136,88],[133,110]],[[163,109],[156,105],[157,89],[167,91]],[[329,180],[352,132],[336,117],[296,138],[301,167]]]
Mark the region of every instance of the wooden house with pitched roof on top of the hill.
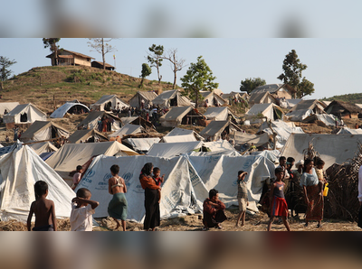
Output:
[[[55,54],[49,54],[46,58],[52,60],[52,66],[56,65]],[[73,66],[91,66],[91,60],[94,59],[88,55],[81,54],[75,51],[59,50],[58,51],[58,65],[73,65]]]

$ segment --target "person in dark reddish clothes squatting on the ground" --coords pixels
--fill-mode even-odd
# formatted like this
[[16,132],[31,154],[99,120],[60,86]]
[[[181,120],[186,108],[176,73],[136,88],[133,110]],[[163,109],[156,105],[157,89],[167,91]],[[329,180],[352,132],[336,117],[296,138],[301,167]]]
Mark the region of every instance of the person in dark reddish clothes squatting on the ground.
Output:
[[223,227],[220,223],[226,219],[224,209],[225,205],[219,199],[219,191],[214,189],[210,190],[209,198],[204,201],[203,230],[208,230],[210,227],[222,229]]

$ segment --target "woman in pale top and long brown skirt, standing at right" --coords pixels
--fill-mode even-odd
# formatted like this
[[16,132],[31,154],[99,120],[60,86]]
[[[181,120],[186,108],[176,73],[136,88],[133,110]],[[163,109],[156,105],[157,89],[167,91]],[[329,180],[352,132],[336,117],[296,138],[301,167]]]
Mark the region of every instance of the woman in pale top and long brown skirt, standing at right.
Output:
[[321,227],[321,221],[323,218],[322,190],[317,173],[313,168],[313,164],[313,160],[305,160],[304,172],[300,178],[300,187],[303,188],[304,199],[307,203],[305,227],[308,226],[310,220],[317,220],[317,227]]

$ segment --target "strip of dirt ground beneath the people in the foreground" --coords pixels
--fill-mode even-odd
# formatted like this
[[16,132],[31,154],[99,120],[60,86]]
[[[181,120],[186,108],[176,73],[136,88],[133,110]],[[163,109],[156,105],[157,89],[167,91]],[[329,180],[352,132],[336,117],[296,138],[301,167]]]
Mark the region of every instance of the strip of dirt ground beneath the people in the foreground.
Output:
[[[246,215],[245,226],[235,227],[238,212],[236,209],[226,210],[227,220],[222,224],[223,229],[211,228],[209,231],[266,231],[269,218],[266,214],[260,212],[253,216]],[[337,219],[324,219],[322,227],[318,228],[316,222],[310,222],[309,227],[304,227],[304,217],[290,218],[291,231],[360,231],[356,222],[348,222]],[[94,227],[94,231],[112,231],[116,227],[116,222],[111,218],[96,218],[100,227]],[[59,220],[58,227],[60,231],[70,231],[71,225],[69,218]],[[161,220],[158,231],[202,231],[202,215],[190,215],[181,218],[171,218]],[[128,231],[142,231],[143,225],[127,222]],[[0,231],[26,231],[26,224],[18,221],[0,221]],[[275,220],[271,226],[272,231],[286,231],[281,221]],[[120,231],[120,229],[118,229]]]

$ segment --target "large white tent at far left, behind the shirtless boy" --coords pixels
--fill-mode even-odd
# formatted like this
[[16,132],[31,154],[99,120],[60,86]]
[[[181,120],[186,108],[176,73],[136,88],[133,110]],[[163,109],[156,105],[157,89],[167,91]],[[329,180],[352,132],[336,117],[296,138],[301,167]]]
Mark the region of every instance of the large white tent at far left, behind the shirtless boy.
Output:
[[47,199],[55,204],[57,218],[69,218],[74,191],[28,146],[18,144],[13,152],[0,157],[0,218],[25,222],[35,200],[33,185],[49,185]]

